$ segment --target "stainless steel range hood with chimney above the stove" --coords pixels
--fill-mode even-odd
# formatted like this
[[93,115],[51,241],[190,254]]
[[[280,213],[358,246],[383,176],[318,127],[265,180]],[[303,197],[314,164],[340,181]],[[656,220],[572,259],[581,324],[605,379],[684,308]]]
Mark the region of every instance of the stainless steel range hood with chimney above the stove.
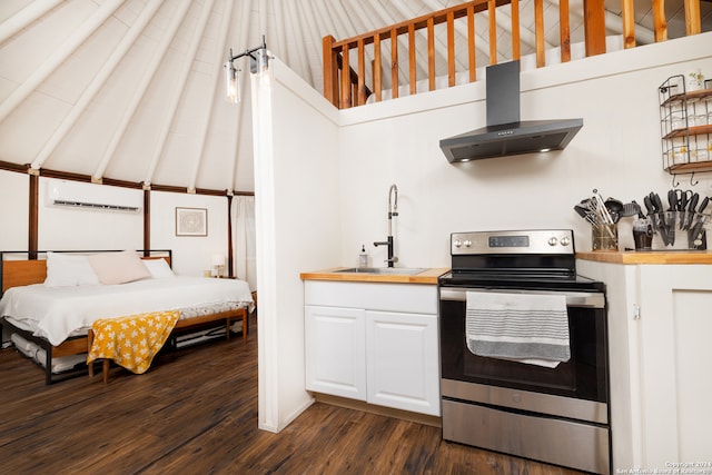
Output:
[[562,150],[583,119],[520,120],[520,61],[487,67],[487,127],[441,140],[449,162]]

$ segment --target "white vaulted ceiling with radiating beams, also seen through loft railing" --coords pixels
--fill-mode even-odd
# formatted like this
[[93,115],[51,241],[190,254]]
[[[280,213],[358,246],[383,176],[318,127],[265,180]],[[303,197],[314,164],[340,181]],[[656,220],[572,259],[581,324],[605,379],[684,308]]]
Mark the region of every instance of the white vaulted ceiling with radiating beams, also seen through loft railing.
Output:
[[[572,42],[583,38],[576,1]],[[268,49],[320,91],[322,37],[344,39],[457,3],[2,0],[0,161],[97,181],[253,191],[249,67],[236,61],[243,102],[228,103],[222,63],[230,48],[254,48],[264,34]],[[523,55],[534,46],[531,3],[521,2]],[[639,43],[651,42],[650,2],[636,3]],[[557,0],[545,4],[554,46]],[[620,32],[620,4],[606,2],[612,34]],[[666,1],[665,10],[669,37],[684,36],[683,0]],[[703,1],[701,12],[703,31],[712,30],[711,3]],[[485,30],[478,28],[484,46]],[[506,28],[500,37],[502,48]]]

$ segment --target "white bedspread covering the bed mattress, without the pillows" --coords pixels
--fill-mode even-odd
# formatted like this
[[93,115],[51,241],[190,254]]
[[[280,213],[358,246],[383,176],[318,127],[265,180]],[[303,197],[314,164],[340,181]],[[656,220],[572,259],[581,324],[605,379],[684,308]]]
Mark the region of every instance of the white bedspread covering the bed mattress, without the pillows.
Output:
[[244,280],[166,277],[120,285],[46,287],[34,284],[8,289],[0,315],[52,345],[77,330],[86,331],[99,318],[216,304],[253,305]]

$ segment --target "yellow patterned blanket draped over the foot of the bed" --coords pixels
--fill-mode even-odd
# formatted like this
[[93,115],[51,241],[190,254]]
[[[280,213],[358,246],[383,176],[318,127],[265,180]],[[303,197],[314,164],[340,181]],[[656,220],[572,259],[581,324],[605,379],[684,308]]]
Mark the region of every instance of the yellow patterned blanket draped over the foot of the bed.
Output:
[[110,358],[132,373],[146,373],[179,317],[180,311],[171,310],[96,320],[87,364]]

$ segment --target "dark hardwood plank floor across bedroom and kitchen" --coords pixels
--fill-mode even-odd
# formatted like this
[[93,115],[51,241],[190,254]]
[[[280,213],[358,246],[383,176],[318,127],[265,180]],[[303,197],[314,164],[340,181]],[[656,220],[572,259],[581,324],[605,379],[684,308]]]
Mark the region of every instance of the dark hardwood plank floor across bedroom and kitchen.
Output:
[[441,429],[317,403],[279,434],[257,428],[257,325],[249,340],[161,355],[44,386],[0,350],[0,473],[557,474],[578,472],[441,439]]

